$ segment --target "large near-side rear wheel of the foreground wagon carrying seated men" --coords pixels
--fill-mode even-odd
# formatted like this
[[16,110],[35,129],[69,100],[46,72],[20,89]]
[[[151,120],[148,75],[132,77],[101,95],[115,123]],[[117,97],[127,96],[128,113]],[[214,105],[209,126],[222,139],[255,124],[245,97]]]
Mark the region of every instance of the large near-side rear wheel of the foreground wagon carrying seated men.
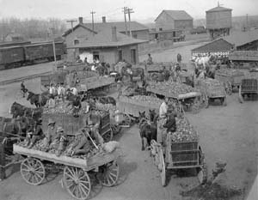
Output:
[[64,168],[63,181],[68,192],[76,199],[86,199],[91,191],[91,180],[86,171],[74,166]]

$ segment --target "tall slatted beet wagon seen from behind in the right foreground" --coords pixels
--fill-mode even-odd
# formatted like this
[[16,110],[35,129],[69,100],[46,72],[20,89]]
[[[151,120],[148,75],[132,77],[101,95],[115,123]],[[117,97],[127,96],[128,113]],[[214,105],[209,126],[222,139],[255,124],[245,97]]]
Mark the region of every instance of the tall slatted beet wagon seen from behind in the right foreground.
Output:
[[[158,130],[157,134],[161,132]],[[167,184],[169,169],[195,169],[200,183],[207,179],[198,133],[185,116],[176,117],[176,131],[167,133],[162,143],[151,140],[150,153],[160,171],[162,186]]]

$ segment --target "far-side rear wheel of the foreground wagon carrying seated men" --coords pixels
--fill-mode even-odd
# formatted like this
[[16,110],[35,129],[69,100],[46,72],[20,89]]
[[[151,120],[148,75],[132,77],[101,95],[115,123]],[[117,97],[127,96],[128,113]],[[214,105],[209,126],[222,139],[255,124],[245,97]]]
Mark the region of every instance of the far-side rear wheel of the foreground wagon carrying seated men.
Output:
[[119,165],[116,161],[105,164],[102,184],[107,187],[114,186],[119,176]]

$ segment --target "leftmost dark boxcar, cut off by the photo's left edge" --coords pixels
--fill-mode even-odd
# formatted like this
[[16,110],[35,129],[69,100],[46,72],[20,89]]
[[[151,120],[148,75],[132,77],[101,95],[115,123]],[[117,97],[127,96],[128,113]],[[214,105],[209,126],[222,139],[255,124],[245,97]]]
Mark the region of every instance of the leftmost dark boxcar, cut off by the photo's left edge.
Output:
[[0,69],[21,66],[25,61],[23,46],[0,48]]

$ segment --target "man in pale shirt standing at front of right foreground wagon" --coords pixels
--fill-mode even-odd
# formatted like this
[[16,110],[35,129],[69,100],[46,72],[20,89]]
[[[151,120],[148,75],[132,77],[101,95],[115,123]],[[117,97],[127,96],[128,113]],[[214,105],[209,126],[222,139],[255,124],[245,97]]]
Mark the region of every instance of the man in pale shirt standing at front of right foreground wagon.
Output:
[[166,123],[168,110],[168,97],[165,97],[164,101],[159,107],[159,118],[158,118],[158,128],[157,128],[157,142],[162,143],[164,141],[163,135],[166,135],[166,129],[163,125]]

